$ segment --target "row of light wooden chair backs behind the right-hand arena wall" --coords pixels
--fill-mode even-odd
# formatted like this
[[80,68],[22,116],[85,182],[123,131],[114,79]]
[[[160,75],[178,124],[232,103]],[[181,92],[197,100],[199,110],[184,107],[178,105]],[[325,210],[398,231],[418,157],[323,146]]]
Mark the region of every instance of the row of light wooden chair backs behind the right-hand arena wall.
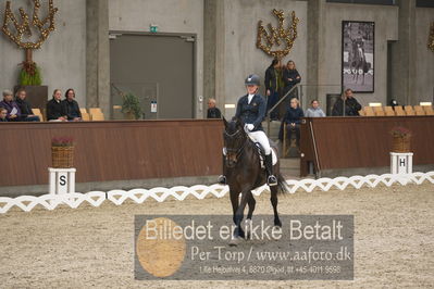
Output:
[[392,106],[363,106],[359,111],[361,116],[406,116],[406,115],[434,115],[433,106],[431,105],[397,105]]

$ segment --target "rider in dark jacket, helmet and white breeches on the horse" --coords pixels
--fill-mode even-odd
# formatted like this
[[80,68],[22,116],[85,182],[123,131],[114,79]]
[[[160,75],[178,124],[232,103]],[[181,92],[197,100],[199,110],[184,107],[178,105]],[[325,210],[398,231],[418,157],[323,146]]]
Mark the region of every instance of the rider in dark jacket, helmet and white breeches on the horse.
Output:
[[[260,81],[259,76],[251,74],[245,80],[247,95],[241,97],[237,103],[235,117],[243,121],[247,135],[255,141],[259,142],[265,152],[265,169],[268,174],[266,183],[269,186],[276,186],[277,179],[273,175],[273,158],[269,138],[262,128],[262,121],[265,118],[265,100],[258,93]],[[225,158],[223,155],[223,172],[225,167]],[[221,175],[219,183],[225,185],[226,177]]]

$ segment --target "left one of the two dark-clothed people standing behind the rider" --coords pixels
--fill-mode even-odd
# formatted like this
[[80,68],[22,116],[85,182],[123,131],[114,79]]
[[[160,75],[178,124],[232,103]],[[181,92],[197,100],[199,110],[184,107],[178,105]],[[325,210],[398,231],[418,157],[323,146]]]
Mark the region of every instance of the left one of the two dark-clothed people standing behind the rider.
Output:
[[[265,92],[266,92],[266,112],[270,111],[278,101],[278,72],[281,61],[273,59],[271,65],[265,71]],[[278,120],[278,111],[274,110],[270,116],[271,121]]]

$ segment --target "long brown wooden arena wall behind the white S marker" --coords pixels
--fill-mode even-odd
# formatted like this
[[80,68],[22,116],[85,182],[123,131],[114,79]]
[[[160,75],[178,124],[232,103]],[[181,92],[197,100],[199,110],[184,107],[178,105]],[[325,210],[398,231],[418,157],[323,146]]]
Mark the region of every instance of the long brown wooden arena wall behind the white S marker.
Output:
[[0,187],[48,184],[62,136],[76,142],[77,183],[218,175],[222,131],[211,120],[1,124]]

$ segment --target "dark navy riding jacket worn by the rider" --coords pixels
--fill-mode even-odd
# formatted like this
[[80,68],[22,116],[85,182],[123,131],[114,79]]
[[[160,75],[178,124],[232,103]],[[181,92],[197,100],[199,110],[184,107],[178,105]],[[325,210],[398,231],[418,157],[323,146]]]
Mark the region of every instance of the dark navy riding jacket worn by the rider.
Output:
[[238,100],[235,117],[241,120],[245,124],[255,125],[252,131],[263,130],[262,121],[265,118],[265,100],[260,95],[255,95],[250,103],[248,103],[248,97],[246,95]]

